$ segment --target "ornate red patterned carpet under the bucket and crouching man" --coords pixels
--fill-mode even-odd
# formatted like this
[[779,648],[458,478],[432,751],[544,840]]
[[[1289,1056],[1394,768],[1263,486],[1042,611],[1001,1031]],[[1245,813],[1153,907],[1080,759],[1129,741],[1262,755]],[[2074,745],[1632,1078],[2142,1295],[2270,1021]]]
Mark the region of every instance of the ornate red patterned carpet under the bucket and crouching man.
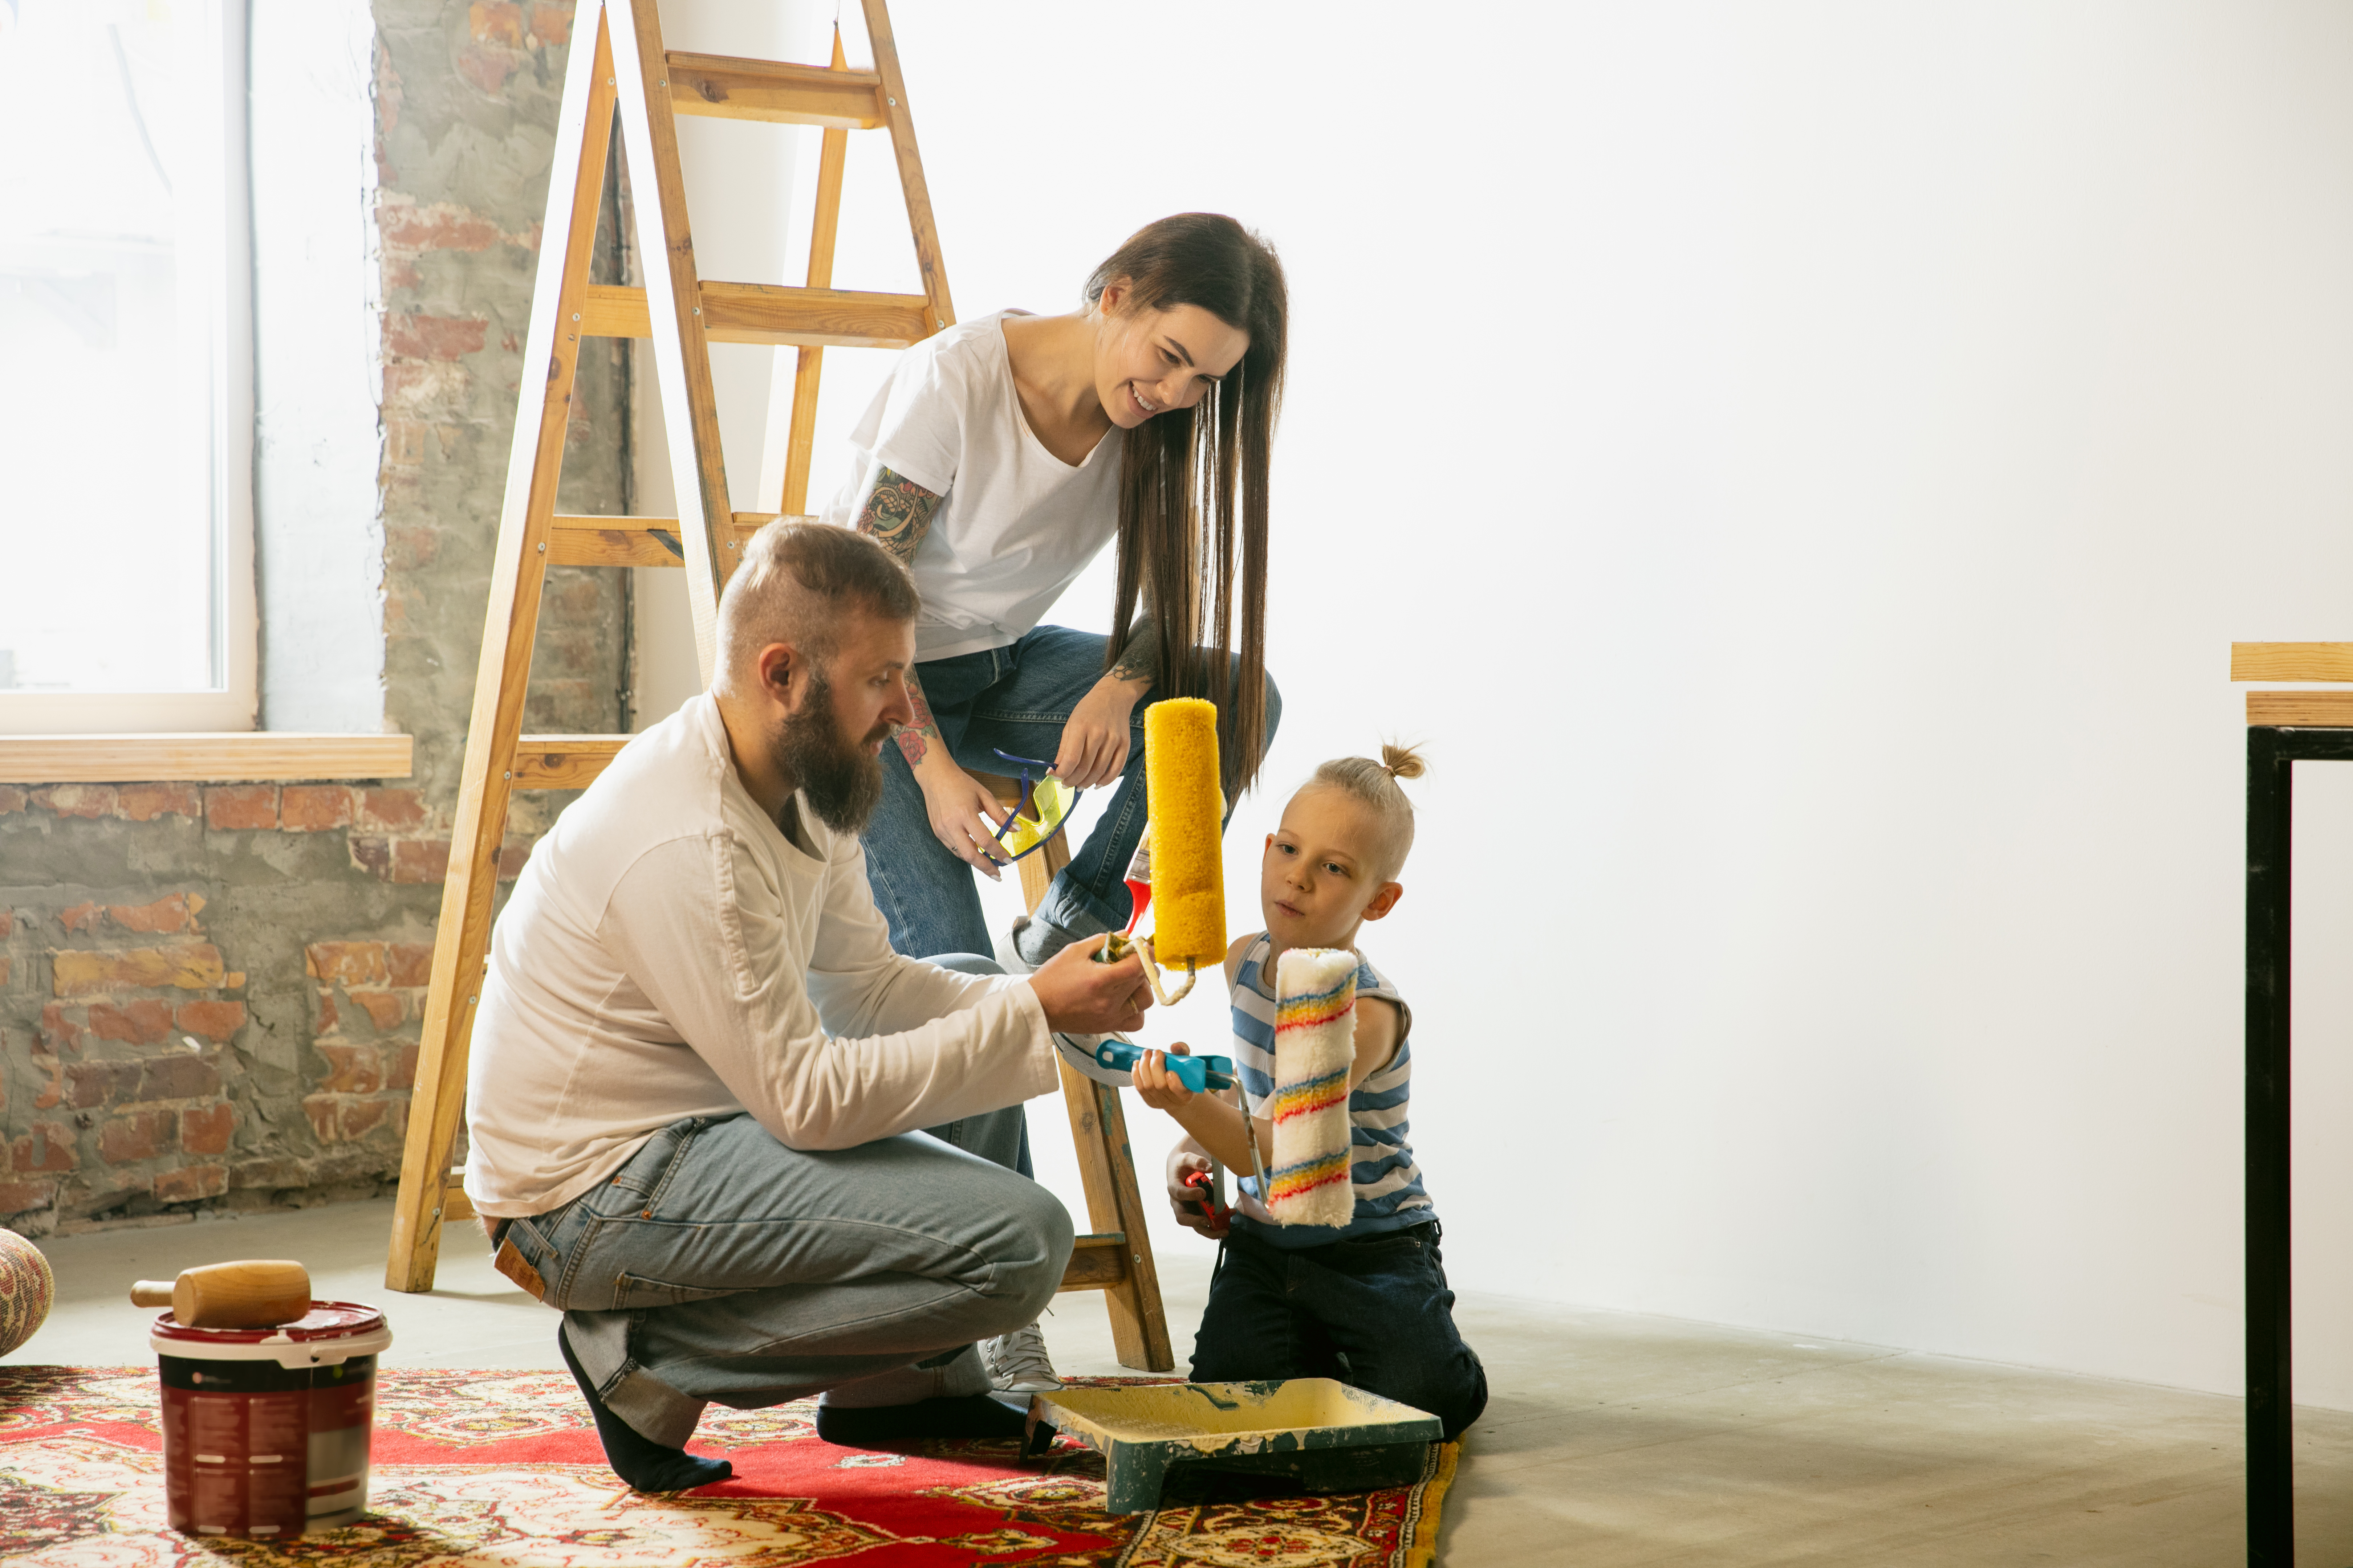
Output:
[[294,1542],[198,1542],[165,1528],[153,1371],[0,1366],[0,1559],[75,1568],[353,1563],[365,1568],[1426,1568],[1454,1448],[1417,1486],[1271,1497],[1238,1476],[1172,1481],[1158,1514],[1115,1516],[1096,1455],[1014,1443],[835,1448],[814,1403],[713,1406],[694,1443],[736,1476],[640,1497],[605,1467],[562,1373],[386,1371],[372,1514]]

